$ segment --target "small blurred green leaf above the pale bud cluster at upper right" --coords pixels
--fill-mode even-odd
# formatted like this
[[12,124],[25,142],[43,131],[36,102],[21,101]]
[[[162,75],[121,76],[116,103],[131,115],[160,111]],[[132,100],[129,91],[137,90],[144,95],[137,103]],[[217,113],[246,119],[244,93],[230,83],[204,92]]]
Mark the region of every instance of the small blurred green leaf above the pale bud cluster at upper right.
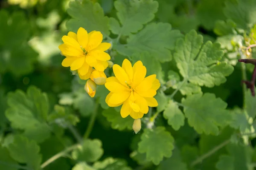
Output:
[[213,31],[218,36],[223,36],[228,34],[236,34],[234,28],[236,28],[236,23],[234,23],[232,20],[227,20],[227,22],[218,20],[215,23]]

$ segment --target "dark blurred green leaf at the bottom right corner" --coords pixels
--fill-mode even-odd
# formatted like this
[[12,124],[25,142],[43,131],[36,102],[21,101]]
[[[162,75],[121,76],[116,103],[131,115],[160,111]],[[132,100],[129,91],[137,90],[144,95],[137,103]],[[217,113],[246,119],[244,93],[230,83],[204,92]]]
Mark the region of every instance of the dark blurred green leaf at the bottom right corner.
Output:
[[218,170],[253,170],[250,166],[253,150],[252,148],[239,144],[228,144],[229,155],[219,158],[216,168]]

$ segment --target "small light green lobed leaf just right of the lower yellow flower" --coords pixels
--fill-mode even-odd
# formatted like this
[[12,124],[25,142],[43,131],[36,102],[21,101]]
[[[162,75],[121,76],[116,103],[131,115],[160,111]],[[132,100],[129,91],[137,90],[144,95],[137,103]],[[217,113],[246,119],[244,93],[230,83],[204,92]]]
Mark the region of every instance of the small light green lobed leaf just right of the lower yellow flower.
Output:
[[163,117],[168,120],[168,124],[171,125],[174,130],[179,130],[185,123],[184,114],[173,100],[169,102],[165,111],[163,111]]

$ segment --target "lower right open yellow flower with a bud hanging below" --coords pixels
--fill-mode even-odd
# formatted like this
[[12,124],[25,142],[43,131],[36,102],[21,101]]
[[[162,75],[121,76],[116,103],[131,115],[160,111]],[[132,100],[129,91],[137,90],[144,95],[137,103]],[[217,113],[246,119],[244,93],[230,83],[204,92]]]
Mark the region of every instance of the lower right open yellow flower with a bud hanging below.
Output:
[[141,61],[134,66],[125,59],[122,67],[113,65],[113,72],[116,77],[108,77],[105,87],[111,91],[105,101],[110,107],[122,105],[121,116],[125,118],[130,115],[133,119],[142,118],[148,113],[148,106],[158,105],[154,96],[160,87],[156,75],[145,77],[146,68]]

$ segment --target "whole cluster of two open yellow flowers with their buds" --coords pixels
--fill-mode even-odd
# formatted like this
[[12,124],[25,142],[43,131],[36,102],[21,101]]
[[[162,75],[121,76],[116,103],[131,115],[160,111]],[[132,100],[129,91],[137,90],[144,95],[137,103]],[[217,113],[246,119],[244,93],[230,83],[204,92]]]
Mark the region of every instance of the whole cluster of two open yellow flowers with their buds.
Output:
[[[108,42],[102,42],[103,36],[99,31],[89,34],[84,28],[79,28],[77,34],[69,32],[63,36],[64,44],[59,46],[61,53],[66,57],[62,65],[77,71],[81,79],[88,79],[84,90],[91,97],[96,94],[96,85],[105,85],[110,91],[105,101],[110,107],[122,105],[121,116],[130,115],[134,120],[135,133],[141,129],[140,118],[148,113],[148,107],[158,105],[154,96],[160,87],[156,75],[146,76],[147,69],[141,61],[133,66],[128,59],[122,67],[109,61],[110,56],[105,51],[111,47]],[[104,71],[113,66],[115,77],[106,77]]]

